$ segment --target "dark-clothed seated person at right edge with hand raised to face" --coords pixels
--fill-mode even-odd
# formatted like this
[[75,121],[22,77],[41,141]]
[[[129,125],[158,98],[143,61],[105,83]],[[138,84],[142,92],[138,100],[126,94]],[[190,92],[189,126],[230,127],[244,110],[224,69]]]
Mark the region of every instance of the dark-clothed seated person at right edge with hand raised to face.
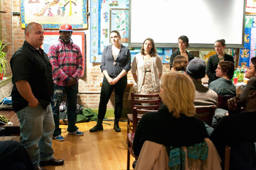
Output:
[[[233,114],[221,118],[210,135],[210,140],[214,143],[222,162],[225,146],[256,142],[256,76],[241,87],[241,94],[228,100],[229,110]],[[241,110],[242,107],[245,111]]]

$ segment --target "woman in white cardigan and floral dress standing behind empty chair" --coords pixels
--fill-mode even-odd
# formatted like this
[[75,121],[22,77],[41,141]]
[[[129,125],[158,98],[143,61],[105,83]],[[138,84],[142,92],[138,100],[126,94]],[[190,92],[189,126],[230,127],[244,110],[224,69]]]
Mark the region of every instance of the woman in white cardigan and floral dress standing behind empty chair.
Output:
[[153,39],[144,40],[141,53],[136,54],[131,65],[131,73],[137,82],[139,94],[160,92],[160,78],[163,64],[157,54]]

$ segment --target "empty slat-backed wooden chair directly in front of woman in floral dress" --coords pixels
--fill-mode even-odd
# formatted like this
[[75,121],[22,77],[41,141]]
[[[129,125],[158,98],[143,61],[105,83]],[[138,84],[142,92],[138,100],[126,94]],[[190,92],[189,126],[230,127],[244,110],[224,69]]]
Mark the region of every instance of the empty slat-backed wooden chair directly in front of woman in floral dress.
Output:
[[[139,99],[139,97],[147,97],[148,100]],[[156,98],[156,99],[155,99]],[[161,99],[159,97],[159,94],[151,94],[151,95],[140,95],[140,94],[134,94],[131,92],[131,106],[137,109],[148,109],[148,110],[155,110],[157,111],[159,109]],[[151,105],[143,105],[145,103],[151,104]],[[132,131],[135,133],[134,125],[133,124],[133,111],[131,114],[127,114],[127,133]]]

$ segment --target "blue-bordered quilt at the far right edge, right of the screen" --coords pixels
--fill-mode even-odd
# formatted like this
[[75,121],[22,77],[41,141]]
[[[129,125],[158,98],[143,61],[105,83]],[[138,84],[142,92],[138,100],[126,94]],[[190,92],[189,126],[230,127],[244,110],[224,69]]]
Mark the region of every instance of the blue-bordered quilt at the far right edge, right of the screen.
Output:
[[256,57],[256,17],[245,17],[245,44],[244,49],[240,49],[239,66],[249,67],[250,58]]

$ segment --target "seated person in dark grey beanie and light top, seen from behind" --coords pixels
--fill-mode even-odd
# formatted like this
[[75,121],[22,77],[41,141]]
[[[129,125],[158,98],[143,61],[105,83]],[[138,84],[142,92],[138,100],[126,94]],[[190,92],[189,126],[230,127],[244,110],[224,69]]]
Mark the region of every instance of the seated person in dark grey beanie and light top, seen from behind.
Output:
[[201,81],[205,76],[205,70],[205,62],[200,58],[192,59],[186,69],[186,73],[191,77],[196,87],[194,104],[196,107],[217,107],[218,95],[213,90],[205,87]]

